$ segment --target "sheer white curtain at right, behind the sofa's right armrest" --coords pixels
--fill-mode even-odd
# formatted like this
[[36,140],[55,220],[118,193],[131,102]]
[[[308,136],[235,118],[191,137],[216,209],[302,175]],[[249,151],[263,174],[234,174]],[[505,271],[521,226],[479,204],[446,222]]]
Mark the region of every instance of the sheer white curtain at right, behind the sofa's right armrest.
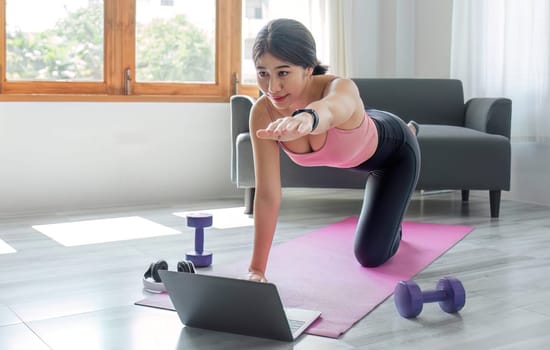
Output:
[[547,0],[453,2],[451,76],[466,98],[512,100],[512,139],[550,142]]

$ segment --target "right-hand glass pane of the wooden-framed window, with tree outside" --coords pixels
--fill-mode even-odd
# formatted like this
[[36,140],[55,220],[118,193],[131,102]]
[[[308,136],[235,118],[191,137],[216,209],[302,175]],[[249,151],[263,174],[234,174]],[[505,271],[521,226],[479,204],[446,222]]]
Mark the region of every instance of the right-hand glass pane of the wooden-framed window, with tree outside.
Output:
[[139,93],[164,88],[169,94],[166,83],[216,83],[216,1],[172,3],[137,0],[133,88]]

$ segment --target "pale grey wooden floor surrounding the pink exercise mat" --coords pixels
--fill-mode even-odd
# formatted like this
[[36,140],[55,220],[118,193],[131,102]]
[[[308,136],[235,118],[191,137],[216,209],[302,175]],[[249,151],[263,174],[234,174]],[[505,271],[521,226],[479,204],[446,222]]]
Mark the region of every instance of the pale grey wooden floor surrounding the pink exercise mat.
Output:
[[[276,243],[357,215],[361,191],[285,190]],[[340,339],[305,335],[295,343],[182,327],[177,315],[134,306],[146,294],[141,276],[152,261],[174,265],[193,234],[64,247],[31,226],[137,215],[191,232],[183,210],[241,205],[239,200],[154,208],[5,218],[0,239],[17,250],[0,255],[0,349],[544,349],[550,346],[550,207],[504,200],[489,217],[488,194],[415,194],[406,220],[464,224],[474,231],[415,277],[432,288],[460,278],[467,303],[459,315],[427,305],[401,318],[389,298]],[[206,233],[216,264],[246,259],[252,228]],[[244,271],[243,271],[244,274]],[[342,291],[345,293],[345,291]]]

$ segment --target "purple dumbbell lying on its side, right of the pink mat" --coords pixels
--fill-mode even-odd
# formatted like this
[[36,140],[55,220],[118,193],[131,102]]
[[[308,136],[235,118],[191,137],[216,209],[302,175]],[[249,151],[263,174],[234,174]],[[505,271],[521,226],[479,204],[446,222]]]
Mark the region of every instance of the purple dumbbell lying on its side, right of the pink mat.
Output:
[[423,292],[413,281],[401,281],[395,287],[395,306],[399,314],[406,318],[420,315],[424,303],[439,302],[447,313],[460,311],[466,303],[466,292],[462,282],[454,277],[443,277],[435,290]]

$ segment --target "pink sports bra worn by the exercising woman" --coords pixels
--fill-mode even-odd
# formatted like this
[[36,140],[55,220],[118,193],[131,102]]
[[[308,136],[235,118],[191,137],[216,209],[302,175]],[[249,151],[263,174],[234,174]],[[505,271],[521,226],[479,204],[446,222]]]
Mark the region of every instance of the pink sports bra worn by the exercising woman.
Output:
[[378,146],[378,133],[365,112],[365,119],[355,129],[329,129],[325,144],[317,151],[294,153],[282,142],[279,144],[292,161],[302,166],[353,168],[372,157]]

